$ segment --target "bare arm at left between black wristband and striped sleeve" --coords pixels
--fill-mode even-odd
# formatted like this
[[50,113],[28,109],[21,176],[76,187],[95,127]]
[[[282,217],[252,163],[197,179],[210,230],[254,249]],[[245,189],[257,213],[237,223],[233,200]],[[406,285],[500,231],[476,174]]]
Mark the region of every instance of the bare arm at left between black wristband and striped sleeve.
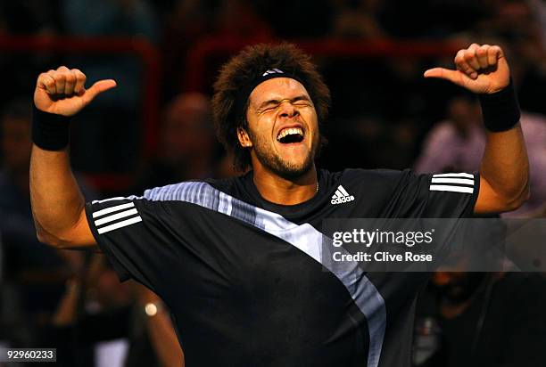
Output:
[[74,232],[85,221],[85,200],[70,170],[68,149],[44,151],[32,147],[30,200],[40,241],[59,247],[90,241]]

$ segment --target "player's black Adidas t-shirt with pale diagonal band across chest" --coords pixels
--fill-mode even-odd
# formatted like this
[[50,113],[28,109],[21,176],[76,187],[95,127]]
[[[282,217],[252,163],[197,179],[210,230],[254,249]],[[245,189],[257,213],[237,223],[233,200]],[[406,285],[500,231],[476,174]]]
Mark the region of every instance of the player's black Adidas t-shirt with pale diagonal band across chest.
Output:
[[312,199],[281,206],[251,172],[94,201],[87,219],[120,279],[169,306],[187,366],[407,366],[427,274],[326,271],[322,221],[467,216],[478,177],[319,170]]

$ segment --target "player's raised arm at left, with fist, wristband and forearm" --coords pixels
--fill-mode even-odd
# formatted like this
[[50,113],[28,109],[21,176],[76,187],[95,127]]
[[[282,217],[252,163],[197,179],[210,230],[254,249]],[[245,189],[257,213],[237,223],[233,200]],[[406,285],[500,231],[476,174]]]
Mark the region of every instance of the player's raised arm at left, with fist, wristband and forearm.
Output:
[[95,246],[85,200],[70,170],[69,118],[114,86],[101,80],[85,88],[79,69],[60,67],[37,78],[30,158],[30,202],[39,241],[57,248]]

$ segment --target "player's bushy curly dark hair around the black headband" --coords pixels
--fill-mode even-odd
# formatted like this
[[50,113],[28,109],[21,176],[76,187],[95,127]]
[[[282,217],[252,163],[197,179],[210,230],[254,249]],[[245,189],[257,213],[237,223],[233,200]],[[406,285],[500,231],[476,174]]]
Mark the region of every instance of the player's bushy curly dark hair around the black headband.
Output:
[[248,126],[246,121],[248,101],[243,113],[240,113],[241,111],[236,108],[236,99],[244,86],[251,84],[256,77],[269,69],[281,69],[297,75],[315,105],[318,123],[323,123],[327,119],[331,102],[330,90],[309,54],[288,43],[245,47],[220,69],[212,97],[216,135],[226,150],[234,153],[233,163],[238,171],[244,171],[249,167],[251,158],[250,152],[241,147],[237,139],[237,128],[246,129]]

